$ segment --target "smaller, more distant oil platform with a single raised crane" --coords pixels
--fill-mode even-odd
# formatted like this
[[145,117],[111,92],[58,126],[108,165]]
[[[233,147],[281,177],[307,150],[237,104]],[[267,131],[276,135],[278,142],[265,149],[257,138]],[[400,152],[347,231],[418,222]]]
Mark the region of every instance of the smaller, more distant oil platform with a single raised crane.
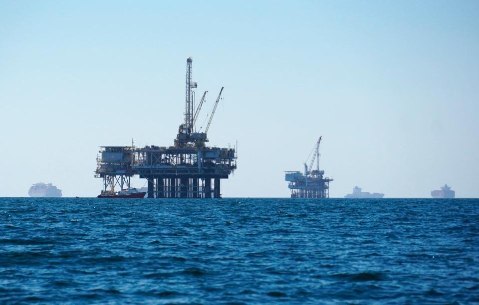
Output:
[[[324,177],[324,170],[319,170],[319,144],[321,137],[304,162],[304,174],[300,171],[286,171],[284,180],[289,181],[291,198],[329,198],[329,182],[333,179]],[[314,151],[314,153],[313,153]],[[311,156],[312,154],[312,156]],[[309,167],[306,164],[309,157]],[[316,160],[316,169],[310,170]]]

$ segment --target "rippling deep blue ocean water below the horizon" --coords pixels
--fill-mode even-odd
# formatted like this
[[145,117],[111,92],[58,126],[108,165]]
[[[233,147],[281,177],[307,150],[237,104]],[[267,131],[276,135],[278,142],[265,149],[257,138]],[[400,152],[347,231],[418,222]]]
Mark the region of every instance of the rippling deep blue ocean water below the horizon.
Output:
[[22,302],[479,302],[479,200],[0,198]]

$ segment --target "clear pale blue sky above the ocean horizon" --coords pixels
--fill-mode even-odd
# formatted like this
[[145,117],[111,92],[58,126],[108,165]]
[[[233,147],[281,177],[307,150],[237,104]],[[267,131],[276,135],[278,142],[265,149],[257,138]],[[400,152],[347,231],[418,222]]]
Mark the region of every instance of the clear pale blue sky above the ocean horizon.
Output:
[[478,54],[476,0],[2,0],[0,196],[96,196],[99,146],[173,145],[192,56],[224,197],[289,196],[319,136],[331,197],[479,197]]

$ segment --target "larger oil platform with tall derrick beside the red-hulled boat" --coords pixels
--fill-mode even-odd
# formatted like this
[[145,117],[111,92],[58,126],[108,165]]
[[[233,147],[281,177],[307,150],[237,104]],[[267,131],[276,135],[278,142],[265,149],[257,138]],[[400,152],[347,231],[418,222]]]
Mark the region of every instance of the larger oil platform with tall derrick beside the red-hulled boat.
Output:
[[[196,121],[207,91],[195,108],[197,83],[192,81],[192,58],[187,59],[185,121],[178,129],[174,146],[106,146],[97,158],[96,177],[103,178],[102,193],[131,187],[139,175],[148,184],[148,198],[221,198],[221,180],[236,168],[235,148],[207,147],[208,130],[220,102],[216,99],[208,125],[197,132]],[[202,128],[200,128],[201,131]]]

